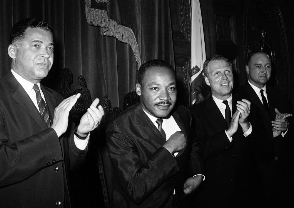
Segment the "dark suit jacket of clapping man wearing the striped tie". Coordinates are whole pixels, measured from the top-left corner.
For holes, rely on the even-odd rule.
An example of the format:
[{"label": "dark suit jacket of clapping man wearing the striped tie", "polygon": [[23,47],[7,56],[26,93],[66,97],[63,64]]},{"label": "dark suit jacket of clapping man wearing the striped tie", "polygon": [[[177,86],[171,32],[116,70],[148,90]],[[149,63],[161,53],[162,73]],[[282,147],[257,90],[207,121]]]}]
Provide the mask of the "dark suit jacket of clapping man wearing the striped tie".
[{"label": "dark suit jacket of clapping man wearing the striped tie", "polygon": [[[51,119],[62,101],[41,85]],[[30,97],[11,71],[0,81],[0,198],[1,207],[70,207],[65,169],[83,160],[70,139],[48,128]],[[69,156],[69,157],[67,157]],[[65,196],[64,196],[65,194]],[[64,202],[64,198],[67,202]]]}]

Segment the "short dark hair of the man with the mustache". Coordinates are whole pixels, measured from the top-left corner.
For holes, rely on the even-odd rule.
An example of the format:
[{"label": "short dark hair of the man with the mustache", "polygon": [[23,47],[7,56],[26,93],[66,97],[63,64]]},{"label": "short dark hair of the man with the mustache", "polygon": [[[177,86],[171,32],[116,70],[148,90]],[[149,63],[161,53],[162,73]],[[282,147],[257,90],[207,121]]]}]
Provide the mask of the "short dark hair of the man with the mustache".
[{"label": "short dark hair of the man with the mustache", "polygon": [[139,71],[138,71],[138,83],[140,85],[142,85],[143,79],[144,79],[145,74],[148,71],[148,69],[150,69],[153,66],[165,67],[165,68],[171,70],[173,72],[174,76],[176,77],[176,73],[173,70],[173,67],[171,66],[171,64],[168,64],[166,61],[163,61],[160,59],[153,59],[153,60],[147,61],[146,63],[144,63],[140,66]]}]

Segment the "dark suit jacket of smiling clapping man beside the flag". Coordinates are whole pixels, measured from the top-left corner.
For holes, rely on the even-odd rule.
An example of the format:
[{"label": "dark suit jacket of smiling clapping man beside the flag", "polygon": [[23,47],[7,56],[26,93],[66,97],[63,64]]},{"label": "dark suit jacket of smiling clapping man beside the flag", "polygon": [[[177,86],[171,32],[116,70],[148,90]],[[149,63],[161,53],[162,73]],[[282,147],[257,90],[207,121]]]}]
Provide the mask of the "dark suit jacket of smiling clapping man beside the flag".
[{"label": "dark suit jacket of smiling clapping man beside the flag", "polygon": [[[232,115],[236,111],[236,102],[233,96]],[[253,184],[257,171],[254,146],[260,147],[262,143],[257,137],[261,129],[255,128],[258,123],[256,110],[254,112],[251,108],[248,117],[253,127],[252,133],[244,137],[239,125],[232,142],[225,134],[227,124],[212,96],[193,105],[190,111],[195,119],[194,128],[201,144],[206,171],[205,181],[195,192],[196,205],[235,207],[235,203],[245,203],[252,195],[251,190],[255,189]]]}]

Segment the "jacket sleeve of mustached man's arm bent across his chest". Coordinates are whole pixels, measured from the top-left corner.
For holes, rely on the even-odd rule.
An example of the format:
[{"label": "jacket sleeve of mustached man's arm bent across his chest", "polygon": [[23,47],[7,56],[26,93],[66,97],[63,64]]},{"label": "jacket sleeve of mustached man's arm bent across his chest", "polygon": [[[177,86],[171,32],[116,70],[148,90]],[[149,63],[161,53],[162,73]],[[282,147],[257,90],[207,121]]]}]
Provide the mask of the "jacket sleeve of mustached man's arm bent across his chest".
[{"label": "jacket sleeve of mustached man's arm bent across his chest", "polygon": [[143,163],[138,148],[119,124],[108,127],[106,142],[115,175],[134,203],[142,202],[179,170],[176,160],[164,147]]}]

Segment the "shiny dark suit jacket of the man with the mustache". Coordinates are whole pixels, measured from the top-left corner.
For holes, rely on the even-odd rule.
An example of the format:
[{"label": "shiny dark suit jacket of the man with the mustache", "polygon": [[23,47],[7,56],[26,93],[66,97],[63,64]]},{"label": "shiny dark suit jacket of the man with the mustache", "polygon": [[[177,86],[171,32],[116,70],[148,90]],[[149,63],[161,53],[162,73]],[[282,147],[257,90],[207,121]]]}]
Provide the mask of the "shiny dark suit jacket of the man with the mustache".
[{"label": "shiny dark suit jacket of the man with the mustache", "polygon": [[171,207],[173,189],[183,205],[183,184],[188,177],[203,174],[198,141],[190,138],[191,115],[179,106],[173,117],[187,139],[173,157],[161,133],[136,105],[118,117],[106,130],[112,162],[111,207]]}]

